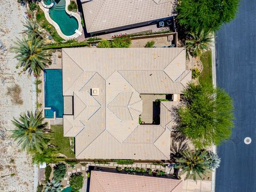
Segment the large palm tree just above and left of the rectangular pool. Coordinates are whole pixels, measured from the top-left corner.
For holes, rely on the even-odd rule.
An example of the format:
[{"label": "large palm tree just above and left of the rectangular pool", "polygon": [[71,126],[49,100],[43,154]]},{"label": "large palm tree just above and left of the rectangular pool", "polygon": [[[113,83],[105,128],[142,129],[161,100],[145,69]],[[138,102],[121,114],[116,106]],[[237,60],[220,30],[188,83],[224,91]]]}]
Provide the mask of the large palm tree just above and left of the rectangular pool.
[{"label": "large palm tree just above and left of the rectangular pool", "polygon": [[32,72],[39,75],[50,61],[51,54],[43,49],[42,39],[34,36],[27,39],[23,36],[21,40],[18,39],[15,42],[15,45],[12,47],[13,51],[17,53],[14,58],[19,59],[18,65],[23,67],[24,71],[28,69],[30,75]]}]

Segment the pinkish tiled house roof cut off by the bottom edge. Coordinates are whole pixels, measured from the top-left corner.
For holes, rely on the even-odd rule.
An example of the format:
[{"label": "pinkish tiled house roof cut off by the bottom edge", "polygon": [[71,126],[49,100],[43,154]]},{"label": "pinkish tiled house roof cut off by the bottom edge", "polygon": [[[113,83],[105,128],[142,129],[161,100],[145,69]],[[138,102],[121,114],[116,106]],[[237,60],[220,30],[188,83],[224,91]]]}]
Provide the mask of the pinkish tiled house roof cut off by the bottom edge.
[{"label": "pinkish tiled house roof cut off by the bottom edge", "polygon": [[90,192],[181,192],[182,181],[122,173],[91,171]]}]

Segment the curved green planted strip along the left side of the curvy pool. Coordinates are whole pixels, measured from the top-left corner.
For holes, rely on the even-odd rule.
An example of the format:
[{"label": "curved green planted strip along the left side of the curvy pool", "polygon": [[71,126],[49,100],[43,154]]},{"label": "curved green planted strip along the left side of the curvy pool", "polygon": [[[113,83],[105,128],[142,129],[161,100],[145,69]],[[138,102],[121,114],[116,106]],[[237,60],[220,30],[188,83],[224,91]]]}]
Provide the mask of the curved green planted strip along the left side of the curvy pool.
[{"label": "curved green planted strip along the left side of the curvy pool", "polygon": [[53,25],[51,25],[47,19],[45,18],[44,12],[41,9],[38,9],[37,14],[36,14],[36,21],[39,23],[39,25],[44,28],[45,30],[47,30],[52,38],[54,39],[54,41],[56,42],[61,42],[64,39],[61,38],[59,36],[59,34],[57,33],[56,29],[53,27]]}]

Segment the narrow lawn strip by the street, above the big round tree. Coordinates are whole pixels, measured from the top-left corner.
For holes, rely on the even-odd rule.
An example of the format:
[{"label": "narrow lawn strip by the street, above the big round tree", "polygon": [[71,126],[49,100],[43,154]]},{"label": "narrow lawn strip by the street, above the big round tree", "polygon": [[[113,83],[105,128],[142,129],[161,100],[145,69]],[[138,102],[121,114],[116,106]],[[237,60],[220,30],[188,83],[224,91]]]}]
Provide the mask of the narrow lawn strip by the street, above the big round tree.
[{"label": "narrow lawn strip by the street, above the big round tree", "polygon": [[206,51],[200,56],[203,71],[199,76],[199,83],[212,83],[212,51]]}]

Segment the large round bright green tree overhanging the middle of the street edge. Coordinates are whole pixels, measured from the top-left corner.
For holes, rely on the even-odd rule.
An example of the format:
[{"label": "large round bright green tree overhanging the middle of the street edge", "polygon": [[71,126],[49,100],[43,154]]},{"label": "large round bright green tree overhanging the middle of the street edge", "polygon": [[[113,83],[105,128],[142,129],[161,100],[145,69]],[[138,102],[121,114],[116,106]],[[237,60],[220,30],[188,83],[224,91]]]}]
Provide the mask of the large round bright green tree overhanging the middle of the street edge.
[{"label": "large round bright green tree overhanging the middle of the street edge", "polygon": [[212,84],[190,83],[178,109],[177,129],[195,148],[219,145],[229,139],[233,124],[233,102],[225,90]]}]

